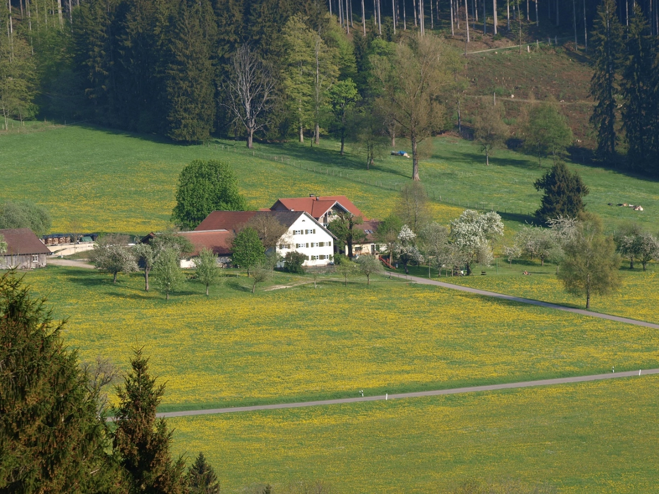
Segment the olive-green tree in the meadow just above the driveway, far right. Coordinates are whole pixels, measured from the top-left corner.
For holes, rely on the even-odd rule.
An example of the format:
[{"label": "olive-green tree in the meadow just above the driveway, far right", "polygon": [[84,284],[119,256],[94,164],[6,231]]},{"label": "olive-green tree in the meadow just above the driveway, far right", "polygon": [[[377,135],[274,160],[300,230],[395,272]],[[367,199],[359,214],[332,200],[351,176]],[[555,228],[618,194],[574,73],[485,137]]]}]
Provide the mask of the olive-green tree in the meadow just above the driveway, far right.
[{"label": "olive-green tree in the meadow just above the driveway, far right", "polygon": [[592,294],[608,294],[619,287],[619,264],[614,239],[604,235],[600,219],[582,215],[573,239],[565,245],[558,278],[567,292],[585,295],[589,309]]}]

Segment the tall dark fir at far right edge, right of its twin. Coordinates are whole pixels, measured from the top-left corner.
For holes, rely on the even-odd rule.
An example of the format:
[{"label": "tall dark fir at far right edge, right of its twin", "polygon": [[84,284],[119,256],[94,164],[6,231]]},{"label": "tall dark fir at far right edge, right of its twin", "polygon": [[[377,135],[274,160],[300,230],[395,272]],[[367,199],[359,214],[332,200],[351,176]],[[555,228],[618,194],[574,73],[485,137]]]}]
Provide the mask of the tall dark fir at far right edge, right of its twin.
[{"label": "tall dark fir at far right edge, right of its twin", "polygon": [[629,144],[627,161],[631,167],[641,170],[657,162],[656,149],[652,149],[652,141],[656,138],[653,123],[658,110],[652,67],[654,44],[648,22],[640,5],[636,4],[629,23],[629,38],[625,43],[620,86],[625,99],[622,121]]}]

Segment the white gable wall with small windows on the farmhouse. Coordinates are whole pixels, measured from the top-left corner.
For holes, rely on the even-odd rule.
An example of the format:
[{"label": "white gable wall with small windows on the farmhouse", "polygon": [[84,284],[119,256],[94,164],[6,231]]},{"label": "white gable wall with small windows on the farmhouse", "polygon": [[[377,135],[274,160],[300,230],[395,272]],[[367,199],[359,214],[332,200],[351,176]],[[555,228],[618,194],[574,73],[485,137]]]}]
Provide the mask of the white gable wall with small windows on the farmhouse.
[{"label": "white gable wall with small windows on the farmhouse", "polygon": [[297,250],[306,256],[305,266],[324,266],[334,254],[334,238],[306,213],[291,225],[287,234],[279,240],[277,252],[285,256]]}]

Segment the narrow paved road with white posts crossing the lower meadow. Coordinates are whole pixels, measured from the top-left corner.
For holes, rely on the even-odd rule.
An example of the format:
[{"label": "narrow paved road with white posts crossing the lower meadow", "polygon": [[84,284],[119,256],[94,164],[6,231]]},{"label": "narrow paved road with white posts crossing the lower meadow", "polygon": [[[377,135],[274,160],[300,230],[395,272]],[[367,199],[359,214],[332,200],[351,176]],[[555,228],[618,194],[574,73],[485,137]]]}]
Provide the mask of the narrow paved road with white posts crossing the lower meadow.
[{"label": "narrow paved road with white posts crossing the lower meadow", "polygon": [[304,401],[299,403],[275,403],[271,405],[234,406],[231,408],[212,408],[209,410],[185,410],[183,412],[165,412],[158,417],[187,417],[193,415],[229,414],[233,412],[254,412],[255,410],[279,410],[281,408],[301,408],[303,406],[334,405],[341,403],[357,403],[362,401],[395,400],[401,398],[434,397],[438,395],[455,395],[457,393],[475,393],[476,391],[496,391],[497,389],[525,388],[530,386],[546,386],[552,384],[581,383],[583,381],[598,381],[614,377],[631,377],[633,375],[659,374],[659,369],[635,370],[616,373],[577,375],[575,377],[558,377],[557,379],[542,379],[541,381],[524,381],[521,383],[492,384],[486,386],[471,386],[465,388],[438,389],[436,391],[415,391],[414,393],[398,393],[396,395],[378,395],[374,397],[338,398],[335,400]]}]

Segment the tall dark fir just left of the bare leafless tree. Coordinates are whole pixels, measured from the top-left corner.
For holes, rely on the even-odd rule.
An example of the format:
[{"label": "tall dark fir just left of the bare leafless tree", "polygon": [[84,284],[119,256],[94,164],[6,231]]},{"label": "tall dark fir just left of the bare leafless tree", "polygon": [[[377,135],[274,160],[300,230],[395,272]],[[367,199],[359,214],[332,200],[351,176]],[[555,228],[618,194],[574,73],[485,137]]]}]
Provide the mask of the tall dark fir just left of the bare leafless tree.
[{"label": "tall dark fir just left of the bare leafless tree", "polygon": [[213,130],[215,73],[210,53],[215,34],[204,22],[212,14],[208,0],[180,0],[175,11],[165,76],[167,135],[177,141],[200,142]]}]

